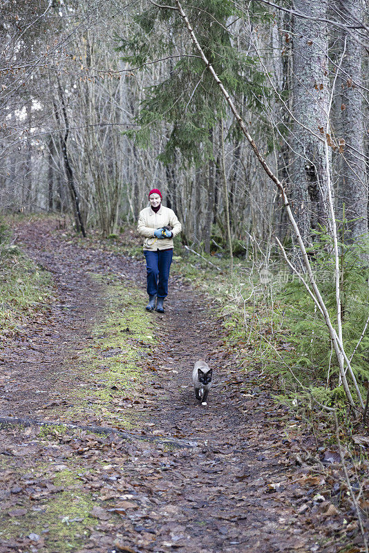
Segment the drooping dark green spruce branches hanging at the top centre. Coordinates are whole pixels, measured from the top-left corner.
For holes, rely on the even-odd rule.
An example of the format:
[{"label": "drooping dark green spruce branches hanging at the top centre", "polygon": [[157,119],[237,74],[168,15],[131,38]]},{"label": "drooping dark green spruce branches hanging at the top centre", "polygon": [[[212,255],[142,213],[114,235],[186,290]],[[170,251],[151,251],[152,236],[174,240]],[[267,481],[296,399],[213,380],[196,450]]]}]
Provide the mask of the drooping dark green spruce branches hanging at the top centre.
[{"label": "drooping dark green spruce branches hanging at the top centre", "polygon": [[[221,81],[243,109],[258,109],[267,94],[264,75],[251,55],[240,53],[227,30],[237,9],[227,0],[199,0],[186,5],[189,21],[205,55]],[[146,88],[137,116],[139,131],[129,131],[141,147],[150,143],[151,132],[167,124],[167,143],[159,158],[168,164],[180,152],[187,162],[199,165],[213,156],[213,129],[225,116],[223,95],[204,62],[193,48],[175,10],[151,6],[134,18],[132,37],[120,37],[122,59],[142,66],[162,57],[171,57],[169,74]],[[168,32],[160,32],[167,26]],[[164,29],[162,28],[164,31]],[[178,55],[179,53],[179,55]],[[179,59],[178,59],[179,58]],[[146,71],[149,71],[146,66]]]}]

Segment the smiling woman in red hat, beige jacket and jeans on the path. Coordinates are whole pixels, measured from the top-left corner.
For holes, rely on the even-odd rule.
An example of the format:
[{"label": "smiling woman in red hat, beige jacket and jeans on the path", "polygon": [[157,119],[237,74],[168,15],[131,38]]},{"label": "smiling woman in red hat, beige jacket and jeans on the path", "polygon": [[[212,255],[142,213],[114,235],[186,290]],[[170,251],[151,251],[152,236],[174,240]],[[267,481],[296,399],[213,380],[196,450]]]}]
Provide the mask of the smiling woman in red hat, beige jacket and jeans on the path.
[{"label": "smiling woman in red hat, beige jacket and jeans on the path", "polygon": [[173,257],[173,237],[182,226],[173,209],[162,205],[162,194],[154,188],[149,191],[149,207],[140,212],[138,232],[144,236],[144,256],[147,270],[147,311],[164,313],[164,298],[168,295],[169,269]]}]

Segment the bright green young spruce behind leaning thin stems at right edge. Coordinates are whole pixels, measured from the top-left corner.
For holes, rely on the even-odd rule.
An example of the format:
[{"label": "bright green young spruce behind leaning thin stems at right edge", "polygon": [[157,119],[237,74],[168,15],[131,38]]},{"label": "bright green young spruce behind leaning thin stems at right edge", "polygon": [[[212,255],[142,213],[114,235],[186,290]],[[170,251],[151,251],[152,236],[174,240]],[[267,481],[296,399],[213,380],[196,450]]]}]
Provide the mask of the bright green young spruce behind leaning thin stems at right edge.
[{"label": "bright green young spruce behind leaning thin stems at right edge", "polygon": [[[332,323],[337,326],[337,305],[334,283],[334,259],[328,235],[321,232],[320,242],[314,245],[312,267],[325,299]],[[368,265],[361,261],[366,245],[341,243],[341,306],[343,345],[348,357],[354,352],[368,319]],[[310,375],[325,382],[337,382],[339,372],[337,358],[331,347],[330,336],[325,321],[314,309],[312,300],[306,294],[305,287],[293,279],[277,296],[283,306],[284,324],[291,329],[290,341],[294,344],[291,360],[305,368]],[[288,305],[289,308],[285,309]],[[280,316],[282,310],[279,310]],[[278,317],[278,315],[277,315]],[[363,335],[361,343],[352,358],[352,369],[358,381],[369,379],[369,332]]]}]

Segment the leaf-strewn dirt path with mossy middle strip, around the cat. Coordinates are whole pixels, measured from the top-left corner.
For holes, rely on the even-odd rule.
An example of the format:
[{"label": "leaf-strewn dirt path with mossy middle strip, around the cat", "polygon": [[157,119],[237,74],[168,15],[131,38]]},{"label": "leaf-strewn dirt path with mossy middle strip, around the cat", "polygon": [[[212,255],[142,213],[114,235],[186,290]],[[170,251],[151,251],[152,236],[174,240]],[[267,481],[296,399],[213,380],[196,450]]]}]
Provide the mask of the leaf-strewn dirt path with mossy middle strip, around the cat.
[{"label": "leaf-strewn dirt path with mossy middle strip, around the cat", "polygon": [[0,350],[1,553],[361,551],[301,460],[314,436],[239,368],[209,298],[173,277],[147,313],[143,261],[50,220],[16,236],[54,297]]}]

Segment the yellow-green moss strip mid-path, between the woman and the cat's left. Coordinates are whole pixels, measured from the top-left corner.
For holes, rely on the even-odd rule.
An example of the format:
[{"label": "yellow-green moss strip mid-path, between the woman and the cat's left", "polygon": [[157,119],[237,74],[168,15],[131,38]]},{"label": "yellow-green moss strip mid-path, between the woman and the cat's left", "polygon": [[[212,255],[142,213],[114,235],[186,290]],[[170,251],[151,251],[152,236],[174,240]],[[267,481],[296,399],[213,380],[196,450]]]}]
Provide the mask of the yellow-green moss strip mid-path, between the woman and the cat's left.
[{"label": "yellow-green moss strip mid-path, between the woman and the cat's left", "polygon": [[155,343],[155,319],[143,308],[143,290],[112,274],[92,277],[102,287],[105,308],[88,346],[78,353],[77,386],[68,393],[73,406],[58,415],[71,420],[93,411],[104,424],[137,427],[140,415],[124,406],[122,396],[129,402],[143,382],[138,363]]}]

